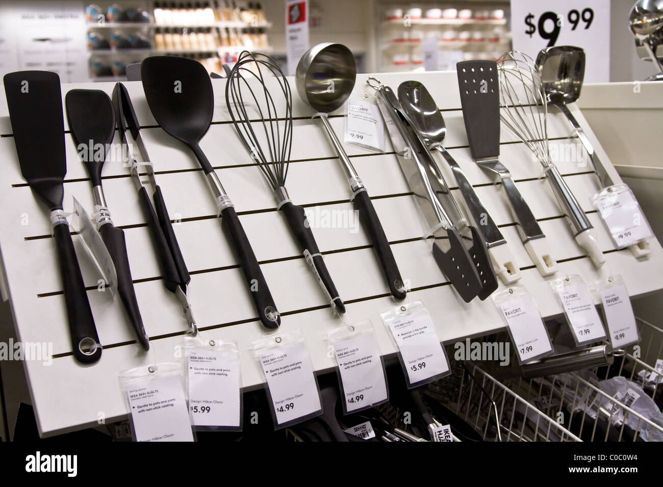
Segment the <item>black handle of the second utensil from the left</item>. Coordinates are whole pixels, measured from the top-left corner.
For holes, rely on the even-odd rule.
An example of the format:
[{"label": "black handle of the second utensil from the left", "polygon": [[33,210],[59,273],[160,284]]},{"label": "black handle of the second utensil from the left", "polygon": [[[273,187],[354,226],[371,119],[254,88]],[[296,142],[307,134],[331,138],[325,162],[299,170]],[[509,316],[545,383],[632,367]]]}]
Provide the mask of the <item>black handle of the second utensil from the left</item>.
[{"label": "black handle of the second utensil from the left", "polygon": [[145,350],[150,349],[150,340],[143,327],[143,317],[138,307],[136,293],[133,289],[133,280],[131,279],[131,269],[129,268],[129,256],[127,255],[127,243],[125,241],[124,231],[113,227],[112,223],[106,223],[99,227],[99,235],[103,243],[111,254],[115,270],[117,271],[117,292],[120,295],[122,304],[127,311],[129,321],[133,327],[138,343]]}]

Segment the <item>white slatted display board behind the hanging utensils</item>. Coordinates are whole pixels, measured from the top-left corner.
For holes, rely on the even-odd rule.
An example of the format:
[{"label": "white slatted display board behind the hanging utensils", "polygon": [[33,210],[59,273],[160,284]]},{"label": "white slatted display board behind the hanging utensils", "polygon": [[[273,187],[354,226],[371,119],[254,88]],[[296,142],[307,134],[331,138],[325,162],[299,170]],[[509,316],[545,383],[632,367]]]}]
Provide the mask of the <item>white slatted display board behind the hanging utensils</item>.
[{"label": "white slatted display board behind the hanging utensils", "polygon": [[[359,76],[355,93],[370,93],[366,76]],[[530,261],[518,239],[514,221],[503,201],[502,191],[471,160],[463,126],[455,73],[381,74],[383,83],[396,89],[408,79],[422,81],[438,106],[447,125],[445,146],[467,174],[470,182],[501,227],[514,258],[522,270],[522,284],[532,294],[546,317],[562,312],[544,278]],[[294,140],[288,174],[290,197],[314,215],[341,211],[347,217],[352,205],[343,171],[318,122],[310,119],[312,110],[297,97],[294,89]],[[282,313],[283,331],[301,328],[308,341],[314,367],[319,372],[333,367],[324,341],[326,330],[371,319],[377,329],[383,354],[394,354],[379,312],[396,305],[381,275],[377,258],[359,221],[341,228],[316,226],[314,235],[325,256],[331,276],[347,305],[343,320],[331,313],[310,270],[288,233],[282,215],[276,212],[271,190],[259,168],[239,142],[225,107],[225,81],[212,80],[215,90],[213,125],[202,140],[202,148],[235,203],[235,209]],[[267,336],[257,321],[257,313],[241,279],[241,270],[216,221],[215,203],[206,188],[202,170],[193,154],[160,129],[147,107],[140,82],[126,83],[141,121],[142,135],[161,186],[170,217],[177,220],[174,230],[192,274],[188,296],[203,337],[235,340],[242,351],[242,379],[245,388],[263,382],[251,343]],[[103,89],[109,95],[113,83],[63,85],[62,96],[75,87]],[[587,127],[577,108],[572,108],[589,139],[615,181],[619,176],[609,158]],[[331,117],[331,125],[342,140],[343,110]],[[65,118],[66,123],[66,118]],[[570,125],[552,108],[548,133],[553,144],[575,144]],[[64,184],[65,209],[71,211],[72,196],[88,210],[93,207],[90,182],[78,161],[76,148],[66,130],[67,176]],[[176,299],[160,282],[148,229],[139,208],[138,195],[129,177],[129,168],[119,160],[109,160],[103,168],[103,187],[113,209],[115,225],[125,230],[135,290],[152,348],[141,354],[119,299],[111,301],[108,292],[97,291],[96,274],[90,260],[77,247],[88,297],[103,345],[101,360],[92,366],[74,361],[58,274],[54,241],[48,215],[21,177],[4,95],[0,96],[0,249],[7,278],[7,290],[19,337],[24,342],[52,343],[52,364],[25,362],[32,401],[42,435],[53,435],[96,425],[99,413],[106,421],[125,417],[118,372],[154,362],[174,360],[182,344],[186,323]],[[607,263],[596,269],[575,244],[571,231],[548,187],[541,179],[542,169],[524,144],[503,129],[501,161],[511,170],[518,188],[546,233],[560,274],[580,274],[588,284],[601,277],[621,274],[633,296],[663,288],[663,250],[652,239],[649,256],[636,260],[627,250],[615,250],[596,211],[591,195],[597,190],[591,166],[575,161],[558,162],[570,188],[595,225]],[[119,142],[117,138],[115,142]],[[565,146],[568,147],[568,146]],[[577,146],[581,150],[580,146]],[[426,227],[416,209],[412,193],[387,144],[385,154],[365,152],[346,146],[363,179],[382,221],[400,272],[410,286],[408,301],[422,300],[430,310],[438,335],[445,343],[476,337],[503,328],[491,299],[464,303],[453,291],[433,259],[430,241],[422,240]],[[436,153],[437,158],[439,154]],[[44,154],[48,156],[48,154]],[[450,186],[455,188],[448,166],[440,166]],[[459,204],[463,200],[454,191]],[[324,220],[318,223],[324,224]],[[77,239],[75,239],[77,240]],[[78,246],[79,244],[76,243]],[[558,274],[559,275],[559,274]],[[501,288],[503,285],[501,284]]]}]

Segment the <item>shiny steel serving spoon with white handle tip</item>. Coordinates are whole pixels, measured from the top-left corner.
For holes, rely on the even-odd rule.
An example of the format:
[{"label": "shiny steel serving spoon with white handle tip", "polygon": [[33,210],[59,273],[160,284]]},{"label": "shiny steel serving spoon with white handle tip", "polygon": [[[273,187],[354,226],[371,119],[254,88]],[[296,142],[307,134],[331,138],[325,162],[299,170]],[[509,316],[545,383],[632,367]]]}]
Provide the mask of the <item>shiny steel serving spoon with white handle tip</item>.
[{"label": "shiny steel serving spoon with white handle tip", "polygon": [[465,176],[465,173],[452,155],[442,146],[446,134],[444,117],[433,97],[419,81],[405,81],[398,87],[398,99],[407,113],[414,129],[426,143],[429,150],[437,149],[451,168],[458,184],[458,189],[465,199],[465,205],[471,215],[475,228],[481,234],[493,262],[495,274],[507,286],[522,277],[520,269],[509,250],[509,244],[479,195]]}]

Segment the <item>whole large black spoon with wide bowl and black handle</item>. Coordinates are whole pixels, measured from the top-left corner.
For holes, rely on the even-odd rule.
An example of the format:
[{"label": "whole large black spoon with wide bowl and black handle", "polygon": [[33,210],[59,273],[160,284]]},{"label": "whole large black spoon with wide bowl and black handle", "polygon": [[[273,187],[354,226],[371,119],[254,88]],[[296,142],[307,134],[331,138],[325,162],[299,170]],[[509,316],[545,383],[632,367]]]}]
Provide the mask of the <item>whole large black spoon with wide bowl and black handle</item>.
[{"label": "whole large black spoon with wide bowl and black handle", "polygon": [[221,223],[233,244],[259,319],[267,328],[280,325],[280,315],[255,258],[249,239],[235,213],[230,197],[221,186],[210,161],[200,148],[200,139],[210,129],[214,92],[210,75],[196,60],[178,56],[150,56],[143,60],[141,80],[147,104],[168,135],[184,142],[196,155],[217,200]]}]

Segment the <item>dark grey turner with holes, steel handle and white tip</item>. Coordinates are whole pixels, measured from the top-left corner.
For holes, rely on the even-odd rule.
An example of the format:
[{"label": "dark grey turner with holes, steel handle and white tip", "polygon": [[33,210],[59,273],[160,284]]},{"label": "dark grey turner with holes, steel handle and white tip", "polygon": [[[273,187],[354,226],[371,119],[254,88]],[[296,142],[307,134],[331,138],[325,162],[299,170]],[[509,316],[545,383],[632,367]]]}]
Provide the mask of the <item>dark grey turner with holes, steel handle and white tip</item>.
[{"label": "dark grey turner with holes, steel handle and white tip", "polygon": [[[499,79],[495,61],[463,61],[456,64],[460,100],[469,150],[474,161],[501,182],[509,209],[516,220],[520,240],[542,276],[557,272],[532,210],[514,184],[511,173],[499,161]],[[477,81],[478,80],[478,81]]]}]

